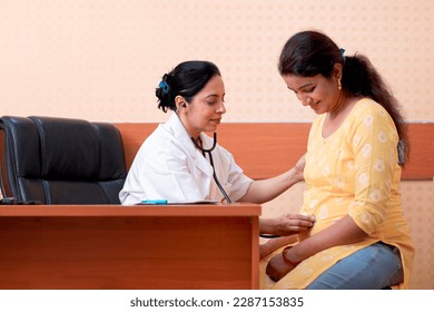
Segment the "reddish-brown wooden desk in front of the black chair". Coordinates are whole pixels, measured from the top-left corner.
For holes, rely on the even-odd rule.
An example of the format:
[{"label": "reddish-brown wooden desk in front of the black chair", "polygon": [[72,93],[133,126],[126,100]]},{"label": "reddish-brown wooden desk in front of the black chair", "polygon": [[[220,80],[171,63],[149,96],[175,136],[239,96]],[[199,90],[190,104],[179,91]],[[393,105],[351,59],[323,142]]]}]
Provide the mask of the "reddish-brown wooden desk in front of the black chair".
[{"label": "reddish-brown wooden desk in front of the black chair", "polygon": [[0,206],[0,289],[258,289],[260,206]]}]

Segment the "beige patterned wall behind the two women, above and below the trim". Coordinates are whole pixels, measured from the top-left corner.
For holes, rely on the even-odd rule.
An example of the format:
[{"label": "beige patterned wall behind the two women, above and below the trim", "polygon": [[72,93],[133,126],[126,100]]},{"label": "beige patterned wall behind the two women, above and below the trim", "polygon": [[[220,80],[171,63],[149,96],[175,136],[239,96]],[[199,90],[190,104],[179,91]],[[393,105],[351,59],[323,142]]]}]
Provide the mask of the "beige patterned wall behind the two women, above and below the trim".
[{"label": "beige patterned wall behind the two women, above and below the trim", "polygon": [[[431,0],[0,0],[0,116],[164,121],[160,77],[208,59],[226,82],[225,121],[310,121],[276,62],[290,35],[315,28],[347,55],[366,53],[408,120],[433,121],[433,14]],[[423,257],[414,285],[425,289],[434,289],[434,233],[418,223],[433,223],[433,182],[403,184]],[[265,214],[294,206],[297,194]]]}]

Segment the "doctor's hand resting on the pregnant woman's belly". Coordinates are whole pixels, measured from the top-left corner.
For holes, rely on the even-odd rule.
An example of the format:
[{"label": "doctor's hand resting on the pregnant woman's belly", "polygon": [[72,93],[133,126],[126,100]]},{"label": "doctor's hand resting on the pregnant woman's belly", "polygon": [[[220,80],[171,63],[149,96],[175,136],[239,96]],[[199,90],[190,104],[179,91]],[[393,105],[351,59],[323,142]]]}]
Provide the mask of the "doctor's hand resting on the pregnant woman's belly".
[{"label": "doctor's hand resting on the pregnant woman's belly", "polygon": [[283,214],[273,218],[259,218],[259,232],[260,234],[287,236],[309,230],[314,223],[314,215]]}]

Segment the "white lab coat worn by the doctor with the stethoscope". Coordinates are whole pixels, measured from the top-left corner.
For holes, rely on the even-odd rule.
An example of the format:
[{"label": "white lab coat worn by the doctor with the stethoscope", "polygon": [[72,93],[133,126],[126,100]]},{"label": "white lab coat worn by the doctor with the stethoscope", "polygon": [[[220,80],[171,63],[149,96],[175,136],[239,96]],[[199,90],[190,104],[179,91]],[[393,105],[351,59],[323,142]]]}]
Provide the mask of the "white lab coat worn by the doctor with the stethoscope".
[{"label": "white lab coat worn by the doctor with the stethoscope", "polygon": [[[204,148],[213,138],[200,134]],[[217,144],[211,152],[217,177],[233,202],[243,197],[251,178],[235,163],[229,152]],[[207,155],[207,154],[206,154]],[[221,201],[224,196],[213,178],[208,155],[205,158],[174,113],[144,142],[128,173],[119,199],[125,205],[146,199],[169,203]]]}]

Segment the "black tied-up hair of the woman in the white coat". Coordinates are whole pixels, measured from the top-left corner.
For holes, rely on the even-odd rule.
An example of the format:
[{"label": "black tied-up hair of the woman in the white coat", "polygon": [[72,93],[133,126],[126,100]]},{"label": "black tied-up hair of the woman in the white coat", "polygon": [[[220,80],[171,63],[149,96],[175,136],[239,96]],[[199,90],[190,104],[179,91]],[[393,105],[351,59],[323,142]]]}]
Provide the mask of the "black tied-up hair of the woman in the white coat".
[{"label": "black tied-up hair of the woman in the white coat", "polygon": [[181,96],[187,103],[199,92],[214,77],[221,76],[218,67],[210,61],[190,60],[179,64],[168,74],[162,76],[161,82],[156,89],[158,108],[167,113],[176,110],[175,98]]}]

